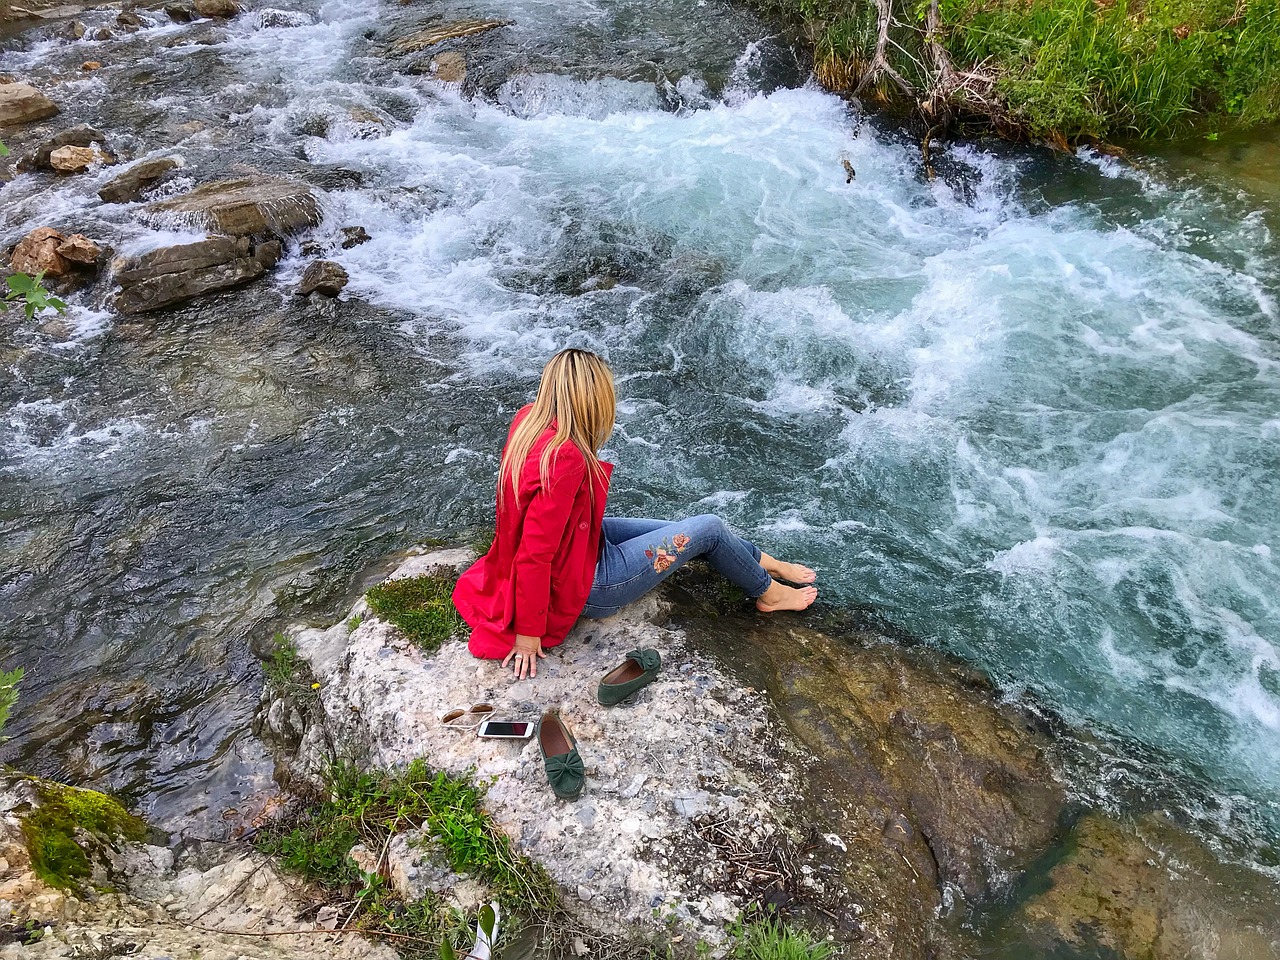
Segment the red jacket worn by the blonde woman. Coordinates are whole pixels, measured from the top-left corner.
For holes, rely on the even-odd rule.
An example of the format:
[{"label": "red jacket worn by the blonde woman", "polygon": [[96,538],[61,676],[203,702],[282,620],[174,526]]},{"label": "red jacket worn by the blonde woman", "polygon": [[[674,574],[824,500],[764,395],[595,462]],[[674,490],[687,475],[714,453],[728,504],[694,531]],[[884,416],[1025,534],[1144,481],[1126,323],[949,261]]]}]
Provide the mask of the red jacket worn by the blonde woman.
[{"label": "red jacket worn by the blonde woman", "polygon": [[[516,413],[508,443],[529,410]],[[568,440],[552,456],[544,488],[539,463],[554,434],[548,428],[534,443],[520,470],[518,497],[507,490],[498,507],[493,547],[453,588],[453,605],[471,625],[476,657],[502,659],[516,645],[516,634],[556,646],[591,593],[613,465],[600,463],[603,479],[588,476],[586,458]]]}]

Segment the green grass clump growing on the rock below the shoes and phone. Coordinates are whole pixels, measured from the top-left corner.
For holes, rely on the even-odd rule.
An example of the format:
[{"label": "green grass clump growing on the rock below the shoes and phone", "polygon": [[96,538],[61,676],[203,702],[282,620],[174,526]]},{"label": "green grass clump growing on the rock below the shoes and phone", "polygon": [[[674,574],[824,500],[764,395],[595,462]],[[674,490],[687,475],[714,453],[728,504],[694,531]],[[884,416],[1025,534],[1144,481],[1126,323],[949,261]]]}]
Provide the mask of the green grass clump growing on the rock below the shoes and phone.
[{"label": "green grass clump growing on the rock below the shoes and phone", "polygon": [[443,940],[470,947],[463,941],[474,918],[460,916],[434,895],[402,901],[384,878],[362,874],[347,854],[357,844],[383,850],[392,836],[421,827],[440,844],[454,872],[477,878],[500,902],[506,933],[521,920],[550,916],[557,909],[554,884],[540,867],[512,851],[484,812],[483,796],[474,783],[431,772],[421,760],[401,772],[337,768],[325,799],[292,823],[260,833],[256,844],[339,902],[353,925],[388,934],[403,952],[434,956]]}]

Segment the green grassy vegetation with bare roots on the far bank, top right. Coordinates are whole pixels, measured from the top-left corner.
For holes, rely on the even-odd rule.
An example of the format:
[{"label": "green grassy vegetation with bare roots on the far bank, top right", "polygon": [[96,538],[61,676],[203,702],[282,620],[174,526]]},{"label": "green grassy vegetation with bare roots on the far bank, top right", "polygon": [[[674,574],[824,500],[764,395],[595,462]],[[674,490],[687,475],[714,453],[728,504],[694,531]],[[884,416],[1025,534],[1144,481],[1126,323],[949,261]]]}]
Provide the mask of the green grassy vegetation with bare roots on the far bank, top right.
[{"label": "green grassy vegetation with bare roots on the far bank, top right", "polygon": [[824,86],[934,136],[1160,140],[1280,116],[1277,0],[758,0]]}]

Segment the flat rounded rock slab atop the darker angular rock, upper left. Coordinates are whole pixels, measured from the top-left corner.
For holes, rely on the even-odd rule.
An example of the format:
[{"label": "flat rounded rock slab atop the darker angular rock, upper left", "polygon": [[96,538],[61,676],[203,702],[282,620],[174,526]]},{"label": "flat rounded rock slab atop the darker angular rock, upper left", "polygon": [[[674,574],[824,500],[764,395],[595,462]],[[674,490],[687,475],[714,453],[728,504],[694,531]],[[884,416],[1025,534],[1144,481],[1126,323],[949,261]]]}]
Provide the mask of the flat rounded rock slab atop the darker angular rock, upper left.
[{"label": "flat rounded rock slab atop the darker angular rock, upper left", "polygon": [[205,183],[173,200],[151,204],[160,220],[232,237],[287,236],[320,223],[320,205],[305,183],[276,177],[246,177]]}]

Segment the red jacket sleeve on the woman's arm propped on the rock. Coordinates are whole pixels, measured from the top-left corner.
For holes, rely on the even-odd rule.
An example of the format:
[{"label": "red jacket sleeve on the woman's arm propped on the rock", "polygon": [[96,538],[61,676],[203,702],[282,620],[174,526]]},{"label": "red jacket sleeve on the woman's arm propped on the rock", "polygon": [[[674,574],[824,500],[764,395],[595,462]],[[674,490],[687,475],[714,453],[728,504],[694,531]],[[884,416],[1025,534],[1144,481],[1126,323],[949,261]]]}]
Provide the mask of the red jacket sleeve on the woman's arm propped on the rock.
[{"label": "red jacket sleeve on the woman's arm propped on the rock", "polygon": [[552,561],[564,539],[573,500],[585,476],[586,462],[572,442],[568,442],[557,451],[552,461],[548,485],[539,485],[529,502],[512,567],[517,634],[539,639],[547,634]]}]

